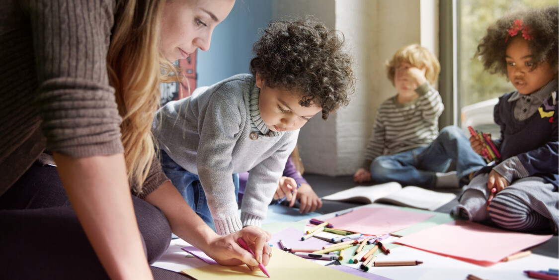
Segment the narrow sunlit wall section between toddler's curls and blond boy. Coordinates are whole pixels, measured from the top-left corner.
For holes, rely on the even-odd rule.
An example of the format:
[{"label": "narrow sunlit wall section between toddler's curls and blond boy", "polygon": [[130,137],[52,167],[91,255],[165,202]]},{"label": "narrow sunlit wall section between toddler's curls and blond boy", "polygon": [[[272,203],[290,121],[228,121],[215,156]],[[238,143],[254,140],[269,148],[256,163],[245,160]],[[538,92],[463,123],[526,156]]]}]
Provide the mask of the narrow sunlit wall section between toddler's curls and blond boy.
[{"label": "narrow sunlit wall section between toddler's curls and blond boy", "polygon": [[[364,147],[371,133],[375,115],[371,108],[377,104],[373,92],[380,78],[377,74],[376,38],[377,1],[336,1],[336,29],[344,33],[353,53],[354,73],[358,82],[347,108],[336,115],[337,166],[334,174],[353,174],[361,164]],[[305,168],[307,168],[305,166]]]}]

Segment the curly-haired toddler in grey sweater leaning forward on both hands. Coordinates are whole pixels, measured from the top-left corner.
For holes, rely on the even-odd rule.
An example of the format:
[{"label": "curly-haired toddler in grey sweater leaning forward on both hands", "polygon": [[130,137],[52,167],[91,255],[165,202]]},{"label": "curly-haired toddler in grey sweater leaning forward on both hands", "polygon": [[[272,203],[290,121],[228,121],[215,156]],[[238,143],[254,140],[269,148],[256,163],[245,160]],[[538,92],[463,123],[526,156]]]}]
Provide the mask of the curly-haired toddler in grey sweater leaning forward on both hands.
[{"label": "curly-haired toddler in grey sweater leaning forward on both hands", "polygon": [[[312,17],[272,21],[254,44],[252,74],[197,88],[158,111],[163,170],[218,234],[260,226],[299,129],[348,104],[354,76],[343,43]],[[231,175],[249,170],[239,217]]]}]

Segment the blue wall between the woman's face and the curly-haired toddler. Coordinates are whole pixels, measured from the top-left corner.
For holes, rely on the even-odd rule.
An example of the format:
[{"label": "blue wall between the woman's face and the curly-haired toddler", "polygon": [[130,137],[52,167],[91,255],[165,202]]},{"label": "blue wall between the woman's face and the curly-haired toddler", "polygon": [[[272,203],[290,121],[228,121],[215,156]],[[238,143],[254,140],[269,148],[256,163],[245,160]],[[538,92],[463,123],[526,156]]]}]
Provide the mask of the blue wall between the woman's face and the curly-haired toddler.
[{"label": "blue wall between the woman's face and the curly-haired toddler", "polygon": [[259,38],[259,29],[266,28],[271,18],[271,1],[236,0],[229,16],[215,28],[210,49],[198,49],[197,87],[249,73],[252,45]]}]

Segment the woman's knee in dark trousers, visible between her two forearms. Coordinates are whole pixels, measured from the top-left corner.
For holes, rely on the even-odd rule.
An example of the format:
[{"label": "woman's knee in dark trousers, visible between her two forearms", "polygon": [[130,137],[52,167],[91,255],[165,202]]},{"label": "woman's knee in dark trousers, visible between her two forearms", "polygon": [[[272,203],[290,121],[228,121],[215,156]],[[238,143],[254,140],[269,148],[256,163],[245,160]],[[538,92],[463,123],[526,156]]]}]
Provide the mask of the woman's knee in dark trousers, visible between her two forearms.
[{"label": "woman's knee in dark trousers, visible between her two forearms", "polygon": [[159,208],[136,197],[134,197],[134,210],[136,212],[138,228],[144,238],[148,262],[153,263],[169,247],[171,240],[169,222]]}]

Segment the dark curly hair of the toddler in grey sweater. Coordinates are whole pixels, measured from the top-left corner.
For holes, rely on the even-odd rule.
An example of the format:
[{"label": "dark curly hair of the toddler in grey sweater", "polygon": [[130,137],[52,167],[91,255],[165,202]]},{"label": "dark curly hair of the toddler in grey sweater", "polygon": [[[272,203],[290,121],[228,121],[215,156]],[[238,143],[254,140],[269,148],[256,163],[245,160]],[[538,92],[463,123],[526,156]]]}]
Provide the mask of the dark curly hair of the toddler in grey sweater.
[{"label": "dark curly hair of the toddler in grey sweater", "polygon": [[250,72],[269,87],[301,91],[301,106],[322,108],[322,118],[347,106],[354,92],[353,59],[343,50],[344,37],[316,18],[272,21],[254,43]]}]

